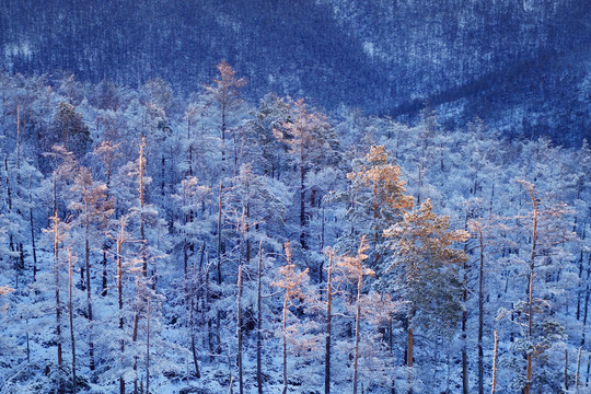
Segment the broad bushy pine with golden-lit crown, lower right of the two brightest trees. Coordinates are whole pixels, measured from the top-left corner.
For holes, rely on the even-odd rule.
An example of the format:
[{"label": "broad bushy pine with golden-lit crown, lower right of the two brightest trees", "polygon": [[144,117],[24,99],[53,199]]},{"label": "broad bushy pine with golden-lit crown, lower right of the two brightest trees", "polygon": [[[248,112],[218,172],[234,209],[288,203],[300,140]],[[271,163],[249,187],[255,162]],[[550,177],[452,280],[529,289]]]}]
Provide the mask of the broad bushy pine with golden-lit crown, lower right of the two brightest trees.
[{"label": "broad bushy pine with golden-lit crown, lower right of the two brightest trees", "polygon": [[459,269],[467,256],[452,246],[465,242],[467,233],[450,230],[449,217],[438,217],[427,200],[384,236],[392,239],[394,251],[387,290],[408,302],[406,364],[413,367],[414,329],[439,329],[449,336],[461,318],[464,285]]}]

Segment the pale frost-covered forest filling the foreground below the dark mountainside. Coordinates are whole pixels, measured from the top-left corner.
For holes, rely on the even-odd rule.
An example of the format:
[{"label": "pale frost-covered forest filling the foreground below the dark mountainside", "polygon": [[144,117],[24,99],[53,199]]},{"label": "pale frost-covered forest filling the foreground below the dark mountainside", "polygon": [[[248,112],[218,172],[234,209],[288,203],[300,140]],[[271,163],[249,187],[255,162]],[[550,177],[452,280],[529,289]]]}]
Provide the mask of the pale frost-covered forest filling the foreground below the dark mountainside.
[{"label": "pale frost-covered forest filling the foreground below the dark mountainside", "polygon": [[587,142],[0,83],[1,392],[591,391]]}]

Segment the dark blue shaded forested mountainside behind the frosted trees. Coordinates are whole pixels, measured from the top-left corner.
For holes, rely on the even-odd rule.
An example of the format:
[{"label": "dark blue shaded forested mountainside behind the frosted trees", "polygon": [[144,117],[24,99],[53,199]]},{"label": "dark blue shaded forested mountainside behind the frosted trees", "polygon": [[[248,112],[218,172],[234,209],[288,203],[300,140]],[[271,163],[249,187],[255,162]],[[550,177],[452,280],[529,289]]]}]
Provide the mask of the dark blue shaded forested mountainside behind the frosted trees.
[{"label": "dark blue shaded forested mountainside behind the frosted trees", "polygon": [[134,88],[163,78],[188,94],[224,58],[253,101],[274,91],[414,117],[428,100],[454,128],[477,114],[503,132],[589,138],[586,0],[2,0],[0,9],[0,68],[10,72],[67,70]]}]

